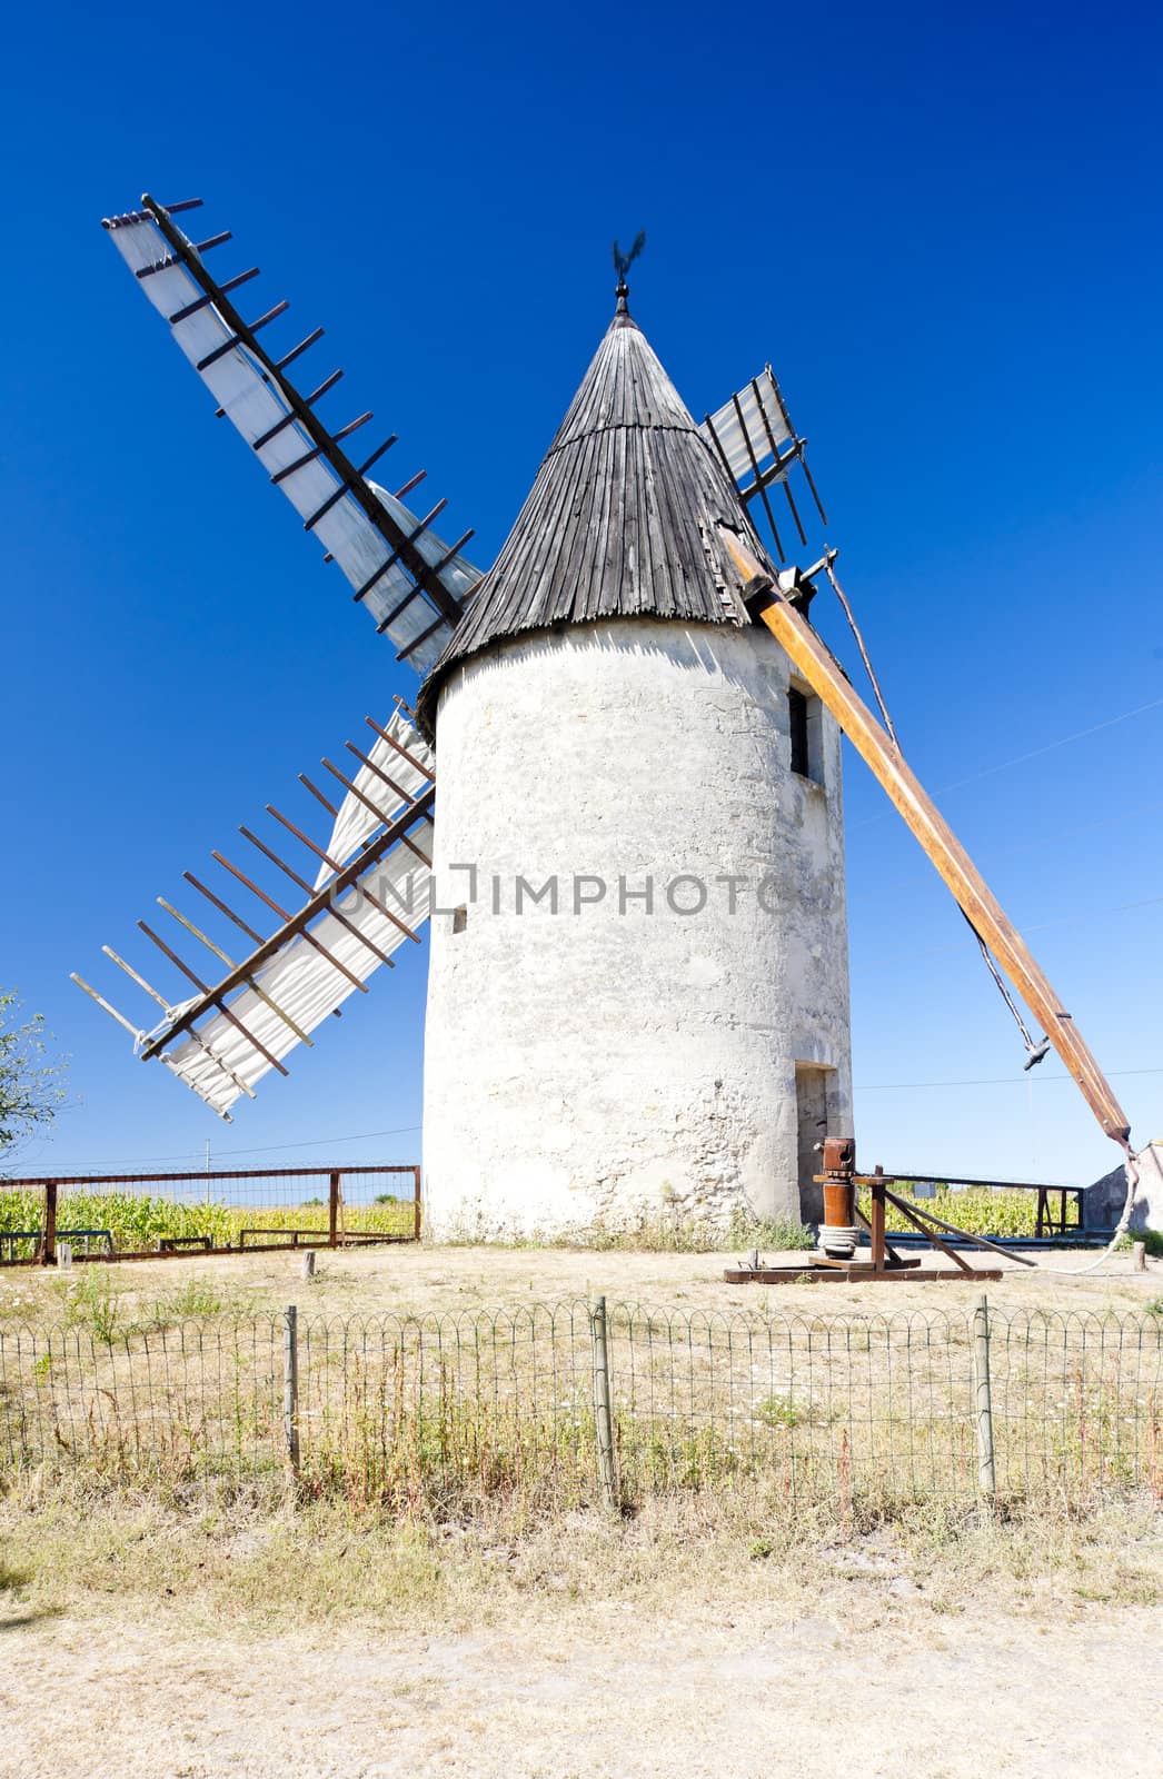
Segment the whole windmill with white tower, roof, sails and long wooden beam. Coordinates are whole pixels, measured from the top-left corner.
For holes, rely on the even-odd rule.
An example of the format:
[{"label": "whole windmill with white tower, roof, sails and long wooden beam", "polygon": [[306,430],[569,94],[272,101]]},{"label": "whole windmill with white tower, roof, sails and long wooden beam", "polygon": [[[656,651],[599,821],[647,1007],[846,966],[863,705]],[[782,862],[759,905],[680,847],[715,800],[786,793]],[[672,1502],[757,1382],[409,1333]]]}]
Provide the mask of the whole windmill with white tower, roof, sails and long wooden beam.
[{"label": "whole windmill with white tower, roof, sails and long wooden beam", "polygon": [[160,1021],[75,978],[137,1053],[229,1117],[427,922],[430,1229],[557,1233],[660,1204],[818,1217],[816,1147],[852,1128],[843,728],[1126,1146],[1065,1009],[807,621],[816,580],[839,591],[836,553],[786,564],[784,535],[807,546],[804,516],[827,521],[770,366],[697,425],[630,313],[640,240],[615,244],[610,327],[482,575],[471,532],[434,528],[445,500],[405,505],[420,477],[372,479],[395,436],[349,454],[372,416],[322,420],[341,374],[308,395],[290,377],[322,329],[269,350],[286,304],[247,324],[233,294],[256,270],[217,281],[206,258],[231,237],[190,240],[188,208],[144,197],[105,228],[421,687],[414,712],[368,719],[347,769],[324,761],[327,788],[301,774],[322,840],[267,806],[297,863],[242,829],[292,893],[222,852],[217,888],[187,873],[219,938],[158,902],[197,968],[139,922],[180,993],[105,948]]}]

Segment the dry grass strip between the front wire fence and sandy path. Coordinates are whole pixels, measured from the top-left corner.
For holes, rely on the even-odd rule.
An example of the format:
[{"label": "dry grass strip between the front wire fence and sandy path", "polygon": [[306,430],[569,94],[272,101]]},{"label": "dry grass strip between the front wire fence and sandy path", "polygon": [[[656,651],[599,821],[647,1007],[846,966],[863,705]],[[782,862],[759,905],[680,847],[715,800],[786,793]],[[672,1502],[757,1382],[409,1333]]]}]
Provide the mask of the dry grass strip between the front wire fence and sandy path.
[{"label": "dry grass strip between the front wire fence and sandy path", "polygon": [[393,1519],[349,1501],[235,1500],[190,1509],[94,1489],[25,1487],[0,1498],[9,1601],[59,1612],[92,1596],[142,1610],[171,1601],[181,1624],[265,1637],[299,1622],[391,1624],[398,1633],[505,1628],[615,1603],[635,1615],[786,1603],[875,1631],[893,1583],[923,1592],[934,1619],[994,1605],[1015,1619],[1163,1599],[1158,1512],[1110,1509],[1079,1523],[1026,1514],[982,1526],[973,1514],[914,1512],[894,1525],[786,1521],[772,1493],[653,1501],[630,1521],[567,1519],[496,1503],[480,1519]]}]

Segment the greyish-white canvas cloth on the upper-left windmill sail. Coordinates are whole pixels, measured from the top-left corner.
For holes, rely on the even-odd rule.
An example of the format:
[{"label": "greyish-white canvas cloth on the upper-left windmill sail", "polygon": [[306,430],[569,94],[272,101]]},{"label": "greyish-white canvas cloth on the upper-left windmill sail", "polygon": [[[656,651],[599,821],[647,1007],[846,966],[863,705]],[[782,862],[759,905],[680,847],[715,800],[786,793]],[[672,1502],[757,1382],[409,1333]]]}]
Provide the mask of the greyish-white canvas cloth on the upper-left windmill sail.
[{"label": "greyish-white canvas cloth on the upper-left windmill sail", "polygon": [[[350,493],[343,493],[336,471],[313,450],[313,441],[301,425],[295,420],[286,420],[290,409],[258,359],[244,345],[229,343],[235,334],[212,302],[203,302],[183,318],[171,318],[181,317],[185,308],[197,304],[203,292],[181,263],[162,263],[171,253],[151,217],[119,221],[110,228],[110,238],[130,270],[142,272],[162,267],[139,278],[140,288],[153,308],[169,320],[181,352],[194,365],[219,407],[251,445],[263,468],[270,475],[277,475],[297,464],[299,459],[309,459],[283,477],[277,486],[304,521],[320,509],[327,509],[315,521],[311,532],[336,559],[352,589],[366,587],[372,582],[363,605],[372,612],[377,626],[397,607],[402,607],[398,616],[386,624],[386,632],[397,649],[407,651],[418,637],[423,637],[425,630],[432,628],[439,612],[427,598],[409,600],[414,585],[413,576],[402,562],[391,560],[393,551],[386,539],[372,525],[359,502]],[[206,363],[206,359],[213,361]],[[199,370],[199,366],[203,368]],[[270,432],[274,436],[258,445]],[[464,600],[480,578],[478,569],[462,555],[450,555],[443,539],[432,530],[421,530],[420,519],[386,489],[375,482],[366,486],[377,495],[400,530],[413,537],[414,548],[429,568],[439,568],[439,580],[446,591],[455,600]],[[329,505],[329,502],[333,503]],[[445,621],[411,649],[407,660],[418,672],[429,671],[450,632],[452,624]]]}]

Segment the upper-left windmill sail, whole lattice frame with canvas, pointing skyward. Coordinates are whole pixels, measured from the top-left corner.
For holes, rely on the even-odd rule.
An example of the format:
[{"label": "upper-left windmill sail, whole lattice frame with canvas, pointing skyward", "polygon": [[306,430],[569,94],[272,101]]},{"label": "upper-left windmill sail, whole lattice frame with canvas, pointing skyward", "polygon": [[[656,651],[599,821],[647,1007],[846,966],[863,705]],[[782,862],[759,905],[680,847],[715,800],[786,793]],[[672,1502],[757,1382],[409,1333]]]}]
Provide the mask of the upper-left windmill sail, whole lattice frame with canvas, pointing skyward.
[{"label": "upper-left windmill sail, whole lattice frame with canvas, pointing skyward", "polygon": [[283,358],[272,358],[258,333],[288,304],[276,304],[253,324],[242,320],[229,294],[256,272],[219,283],[205,265],[205,254],[229,240],[228,233],[194,244],[172,221],[174,212],[194,205],[165,210],[148,196],[142,205],[144,210],[105,221],[121,258],[169,322],[219,413],[231,420],[283,489],[304,530],[340,564],[354,598],[395,644],[397,658],[427,672],[480,580],[462,555],[471,530],[448,544],[432,530],[446,502],[437,502],[425,518],[404,505],[400,496],[421,477],[413,477],[397,495],[368,479],[395,436],[361,464],[347,457],[341,441],[372,415],[336,432],[324,425],[315,407],[343,374],[334,372],[306,397],[286,375],[286,366],[322,336],[322,327]]}]

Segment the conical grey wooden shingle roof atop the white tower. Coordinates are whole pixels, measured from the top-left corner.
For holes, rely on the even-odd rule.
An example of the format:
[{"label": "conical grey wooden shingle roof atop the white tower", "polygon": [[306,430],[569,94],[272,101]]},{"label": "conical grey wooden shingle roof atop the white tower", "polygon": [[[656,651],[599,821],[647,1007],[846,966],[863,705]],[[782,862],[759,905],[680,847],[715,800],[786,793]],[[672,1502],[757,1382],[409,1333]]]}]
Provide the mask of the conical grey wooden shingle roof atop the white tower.
[{"label": "conical grey wooden shingle roof atop the white tower", "polygon": [[450,667],[530,630],[605,617],[745,623],[738,576],[713,534],[720,518],[750,532],[734,484],[619,288],[517,521],[421,687],[423,728],[434,726]]}]

